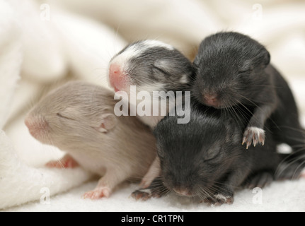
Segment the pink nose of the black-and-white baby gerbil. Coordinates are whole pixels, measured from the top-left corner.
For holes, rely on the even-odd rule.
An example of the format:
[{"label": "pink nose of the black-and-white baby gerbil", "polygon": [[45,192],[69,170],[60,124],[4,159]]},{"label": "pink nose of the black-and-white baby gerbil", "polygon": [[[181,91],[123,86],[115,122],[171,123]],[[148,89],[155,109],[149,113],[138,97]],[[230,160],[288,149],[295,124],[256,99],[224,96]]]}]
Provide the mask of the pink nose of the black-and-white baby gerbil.
[{"label": "pink nose of the black-and-white baby gerbil", "polygon": [[127,85],[127,76],[125,71],[122,71],[120,65],[110,64],[109,67],[110,85],[115,88],[115,92],[122,90]]}]

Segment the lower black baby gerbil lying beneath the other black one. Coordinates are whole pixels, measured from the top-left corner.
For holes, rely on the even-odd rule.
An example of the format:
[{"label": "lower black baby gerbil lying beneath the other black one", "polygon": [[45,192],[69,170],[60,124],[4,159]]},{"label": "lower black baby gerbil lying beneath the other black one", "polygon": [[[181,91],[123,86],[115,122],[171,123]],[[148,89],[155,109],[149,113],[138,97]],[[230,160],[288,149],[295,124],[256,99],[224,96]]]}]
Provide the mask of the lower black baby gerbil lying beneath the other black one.
[{"label": "lower black baby gerbil lying beneath the other black one", "polygon": [[[133,196],[145,200],[174,191],[220,205],[233,203],[239,186],[265,186],[275,179],[283,156],[277,154],[270,130],[266,129],[264,146],[245,151],[240,140],[248,119],[236,121],[231,114],[192,102],[188,124],[177,124],[175,117],[162,119],[154,129],[161,177]],[[296,176],[301,172],[295,166],[285,170]]]}]

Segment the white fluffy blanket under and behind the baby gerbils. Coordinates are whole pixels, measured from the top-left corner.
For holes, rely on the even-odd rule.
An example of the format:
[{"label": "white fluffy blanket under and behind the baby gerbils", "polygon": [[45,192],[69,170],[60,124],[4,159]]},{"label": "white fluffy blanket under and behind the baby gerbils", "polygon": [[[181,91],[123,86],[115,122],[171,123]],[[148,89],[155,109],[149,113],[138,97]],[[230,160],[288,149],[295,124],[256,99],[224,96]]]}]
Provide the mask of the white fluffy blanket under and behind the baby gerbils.
[{"label": "white fluffy blanket under and behind the baby gerbils", "polygon": [[79,79],[107,86],[108,61],[128,42],[158,39],[192,58],[200,41],[220,30],[244,32],[265,44],[304,116],[304,11],[304,2],[288,0],[0,0],[0,209],[304,211],[304,179],[275,182],[257,193],[238,191],[232,206],[207,207],[173,194],[134,201],[136,184],[123,185],[108,199],[84,200],[96,179],[88,182],[92,175],[80,168],[43,167],[63,153],[35,141],[23,124],[30,107],[56,85]]}]

